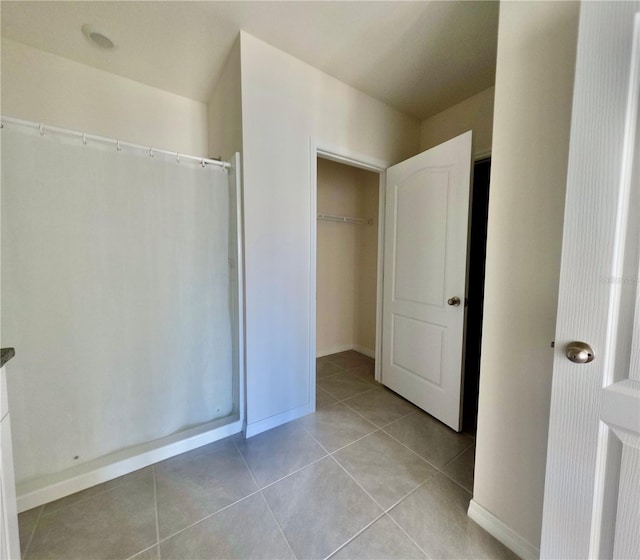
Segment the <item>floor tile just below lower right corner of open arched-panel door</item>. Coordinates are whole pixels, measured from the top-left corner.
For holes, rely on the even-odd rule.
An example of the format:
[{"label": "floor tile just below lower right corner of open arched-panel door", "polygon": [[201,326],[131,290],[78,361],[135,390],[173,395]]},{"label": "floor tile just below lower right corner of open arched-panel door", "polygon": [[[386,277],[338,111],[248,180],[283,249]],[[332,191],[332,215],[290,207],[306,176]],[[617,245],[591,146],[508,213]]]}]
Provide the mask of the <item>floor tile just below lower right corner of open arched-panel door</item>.
[{"label": "floor tile just below lower right corner of open arched-panel door", "polygon": [[436,467],[442,467],[474,444],[426,413],[418,412],[384,427],[384,431]]}]

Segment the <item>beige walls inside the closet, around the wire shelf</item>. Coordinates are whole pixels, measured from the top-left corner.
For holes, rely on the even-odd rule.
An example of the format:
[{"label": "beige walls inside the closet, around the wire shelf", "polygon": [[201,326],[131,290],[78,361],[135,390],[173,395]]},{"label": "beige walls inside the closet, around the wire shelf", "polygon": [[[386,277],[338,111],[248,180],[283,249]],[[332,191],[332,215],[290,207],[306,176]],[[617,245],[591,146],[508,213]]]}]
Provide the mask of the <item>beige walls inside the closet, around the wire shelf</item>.
[{"label": "beige walls inside the closet, around the wire shelf", "polygon": [[318,213],[374,221],[318,220],[316,356],[375,353],[378,181],[376,173],[318,159]]}]

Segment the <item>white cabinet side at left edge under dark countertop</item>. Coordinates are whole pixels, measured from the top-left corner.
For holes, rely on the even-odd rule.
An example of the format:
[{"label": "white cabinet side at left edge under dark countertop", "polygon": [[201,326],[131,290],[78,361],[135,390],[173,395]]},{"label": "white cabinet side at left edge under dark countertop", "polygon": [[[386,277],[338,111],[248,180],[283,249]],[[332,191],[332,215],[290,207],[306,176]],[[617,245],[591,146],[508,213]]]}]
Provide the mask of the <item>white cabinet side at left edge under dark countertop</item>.
[{"label": "white cabinet side at left edge under dark countertop", "polygon": [[0,560],[20,559],[11,418],[5,368],[0,368]]}]

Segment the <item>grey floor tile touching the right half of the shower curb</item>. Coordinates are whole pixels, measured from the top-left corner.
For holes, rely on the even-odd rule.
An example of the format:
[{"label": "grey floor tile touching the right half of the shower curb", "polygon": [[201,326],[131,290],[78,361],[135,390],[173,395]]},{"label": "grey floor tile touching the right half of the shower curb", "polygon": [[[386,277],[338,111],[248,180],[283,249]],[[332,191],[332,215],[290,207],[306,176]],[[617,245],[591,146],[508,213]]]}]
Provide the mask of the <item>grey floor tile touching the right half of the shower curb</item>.
[{"label": "grey floor tile touching the right half of the shower curb", "polygon": [[160,538],[257,490],[233,442],[212,444],[155,466]]}]

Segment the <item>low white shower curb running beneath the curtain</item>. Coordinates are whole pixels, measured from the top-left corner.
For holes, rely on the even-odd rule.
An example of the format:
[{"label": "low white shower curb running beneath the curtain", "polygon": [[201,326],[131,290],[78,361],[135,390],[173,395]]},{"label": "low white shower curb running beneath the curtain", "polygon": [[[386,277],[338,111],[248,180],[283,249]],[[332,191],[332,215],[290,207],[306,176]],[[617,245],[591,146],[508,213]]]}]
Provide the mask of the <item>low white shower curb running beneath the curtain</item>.
[{"label": "low white shower curb running beneath the curtain", "polygon": [[191,451],[208,443],[242,431],[242,421],[222,418],[149,443],[88,461],[55,475],[38,478],[18,485],[18,512],[64,498],[96,484],[113,480],[138,469]]}]

